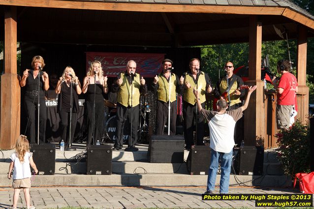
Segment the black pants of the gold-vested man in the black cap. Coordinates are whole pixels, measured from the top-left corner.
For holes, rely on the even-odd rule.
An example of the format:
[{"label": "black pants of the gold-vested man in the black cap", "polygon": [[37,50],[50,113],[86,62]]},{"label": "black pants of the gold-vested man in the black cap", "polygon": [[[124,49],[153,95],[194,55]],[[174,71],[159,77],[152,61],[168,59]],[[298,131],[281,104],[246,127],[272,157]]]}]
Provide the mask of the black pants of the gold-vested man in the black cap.
[{"label": "black pants of the gold-vested man in the black cap", "polygon": [[[170,102],[170,135],[176,135],[176,121],[177,121],[177,105],[176,101]],[[156,134],[163,135],[164,126],[168,126],[169,102],[157,101],[157,122]],[[166,130],[168,133],[168,129]]]}]

